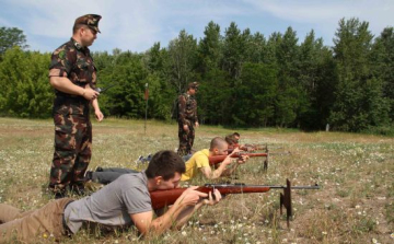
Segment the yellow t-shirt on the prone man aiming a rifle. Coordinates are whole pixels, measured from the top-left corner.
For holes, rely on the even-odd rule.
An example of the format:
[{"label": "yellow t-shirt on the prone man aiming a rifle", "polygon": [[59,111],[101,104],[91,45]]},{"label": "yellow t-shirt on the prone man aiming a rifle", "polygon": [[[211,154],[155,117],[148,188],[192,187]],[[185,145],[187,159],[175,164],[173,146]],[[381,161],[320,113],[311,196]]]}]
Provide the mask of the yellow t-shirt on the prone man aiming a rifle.
[{"label": "yellow t-shirt on the prone man aiming a rifle", "polygon": [[196,152],[193,156],[186,162],[186,172],[182,174],[181,181],[189,181],[201,171],[200,167],[210,167],[209,165],[209,150],[202,149],[201,151]]}]

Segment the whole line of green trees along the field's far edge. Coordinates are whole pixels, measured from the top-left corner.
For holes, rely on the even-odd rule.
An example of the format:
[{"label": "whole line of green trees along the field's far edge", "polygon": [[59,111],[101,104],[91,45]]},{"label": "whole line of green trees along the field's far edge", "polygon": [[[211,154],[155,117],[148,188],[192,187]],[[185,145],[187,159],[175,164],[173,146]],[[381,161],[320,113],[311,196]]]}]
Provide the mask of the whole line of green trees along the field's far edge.
[{"label": "whole line of green trees along the field's far edge", "polygon": [[[169,120],[177,94],[198,81],[202,124],[393,133],[393,27],[373,36],[368,22],[341,19],[333,40],[325,46],[313,30],[299,40],[290,26],[265,37],[234,22],[222,33],[210,22],[199,40],[182,30],[166,47],[97,51],[99,86],[116,84],[101,108],[143,118],[148,83],[148,117]],[[0,30],[0,114],[50,117],[50,54],[26,51],[25,43],[22,31]]]}]

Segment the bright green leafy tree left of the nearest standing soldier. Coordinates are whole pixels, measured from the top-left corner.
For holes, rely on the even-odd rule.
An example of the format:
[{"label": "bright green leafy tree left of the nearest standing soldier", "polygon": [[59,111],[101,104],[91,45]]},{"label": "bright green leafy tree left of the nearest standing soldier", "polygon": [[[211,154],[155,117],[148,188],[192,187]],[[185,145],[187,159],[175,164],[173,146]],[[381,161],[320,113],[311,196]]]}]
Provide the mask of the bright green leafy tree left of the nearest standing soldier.
[{"label": "bright green leafy tree left of the nearest standing soldier", "polygon": [[48,82],[49,54],[8,49],[0,62],[0,112],[7,116],[48,117],[54,93]]}]

